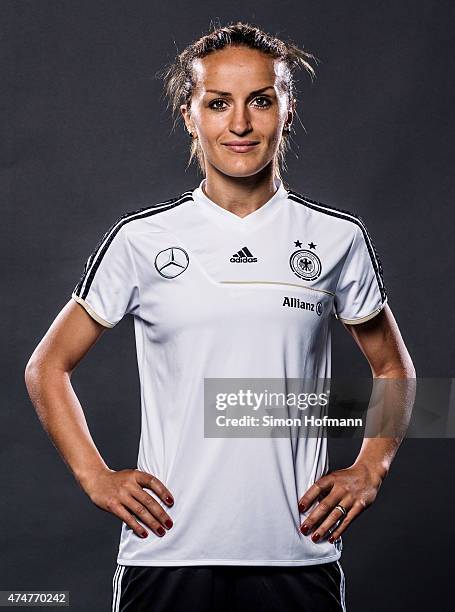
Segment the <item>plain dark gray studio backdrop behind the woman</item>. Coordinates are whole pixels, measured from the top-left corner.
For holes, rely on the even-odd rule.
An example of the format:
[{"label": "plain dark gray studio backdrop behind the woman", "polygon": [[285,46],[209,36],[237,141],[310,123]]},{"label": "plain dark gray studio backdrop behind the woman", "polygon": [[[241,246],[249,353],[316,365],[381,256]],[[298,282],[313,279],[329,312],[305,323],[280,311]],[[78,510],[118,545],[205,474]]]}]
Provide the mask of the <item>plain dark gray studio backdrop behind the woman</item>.
[{"label": "plain dark gray studio backdrop behind the woman", "polygon": [[[74,610],[104,611],[120,521],[78,488],[41,429],[23,369],[110,223],[200,181],[185,171],[188,139],[170,133],[156,71],[217,18],[253,22],[319,57],[316,81],[302,75],[299,84],[306,132],[295,124],[285,178],[362,216],[417,374],[454,376],[454,6],[21,0],[1,8],[0,589],[69,589]],[[333,328],[333,375],[368,375],[351,337]],[[134,467],[130,317],[104,334],[73,384],[108,464]],[[331,447],[331,467],[346,467],[359,440]],[[403,442],[375,504],[344,536],[350,612],[427,610],[436,599],[449,609],[453,448],[453,440]],[[252,500],[251,512],[262,510]]]}]

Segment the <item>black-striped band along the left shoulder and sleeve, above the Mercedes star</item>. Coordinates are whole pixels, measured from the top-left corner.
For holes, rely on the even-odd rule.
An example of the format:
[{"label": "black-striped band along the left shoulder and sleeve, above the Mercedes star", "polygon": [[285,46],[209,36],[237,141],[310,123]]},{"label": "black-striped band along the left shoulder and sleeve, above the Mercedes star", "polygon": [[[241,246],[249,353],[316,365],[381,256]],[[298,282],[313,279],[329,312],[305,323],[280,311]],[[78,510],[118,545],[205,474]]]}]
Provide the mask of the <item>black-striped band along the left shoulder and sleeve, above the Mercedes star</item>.
[{"label": "black-striped band along the left shoulder and sleeve, above the Mercedes star", "polygon": [[184,202],[191,201],[192,199],[192,191],[184,191],[177,197],[170,198],[169,200],[165,200],[164,202],[160,202],[152,206],[143,206],[142,208],[131,210],[117,217],[117,219],[104,233],[102,238],[98,241],[98,244],[95,246],[93,252],[87,259],[82,276],[73,292],[82,299],[87,297],[90,286],[93,282],[93,278],[109,248],[109,245],[112,243],[115,236],[124,225],[134,221],[135,219],[144,219],[145,217],[151,217],[159,214],[160,212],[171,210],[172,208],[180,206]]}]

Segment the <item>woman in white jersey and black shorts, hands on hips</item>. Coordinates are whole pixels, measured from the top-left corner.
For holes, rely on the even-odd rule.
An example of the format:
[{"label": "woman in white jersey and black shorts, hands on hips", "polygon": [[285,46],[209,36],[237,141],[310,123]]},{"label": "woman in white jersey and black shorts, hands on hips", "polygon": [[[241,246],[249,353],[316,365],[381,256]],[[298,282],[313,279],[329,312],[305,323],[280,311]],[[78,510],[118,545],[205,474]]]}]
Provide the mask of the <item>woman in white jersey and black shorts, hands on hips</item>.
[{"label": "woman in white jersey and black shorts, hands on hips", "polygon": [[[364,440],[353,465],[328,472],[324,436],[204,436],[205,379],[330,378],[331,314],[374,377],[414,375],[362,220],[280,178],[293,75],[313,74],[312,58],[242,23],[177,57],[167,92],[204,179],[111,225],[28,364],[56,446],[93,503],[123,521],[114,611],[176,612],[191,597],[199,611],[345,610],[341,534],[374,501],[399,442]],[[127,313],[142,431],[137,469],[114,471],[69,377]]]}]

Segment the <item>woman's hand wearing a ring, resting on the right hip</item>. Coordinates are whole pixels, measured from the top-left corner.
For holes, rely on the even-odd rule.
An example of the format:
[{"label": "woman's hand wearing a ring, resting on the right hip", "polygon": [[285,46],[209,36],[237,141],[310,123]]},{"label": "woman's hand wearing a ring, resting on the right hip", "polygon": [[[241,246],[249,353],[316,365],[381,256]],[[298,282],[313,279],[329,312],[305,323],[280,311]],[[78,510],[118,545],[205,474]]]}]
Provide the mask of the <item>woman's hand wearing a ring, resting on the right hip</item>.
[{"label": "woman's hand wearing a ring, resting on the right hip", "polygon": [[[315,509],[307,516],[300,527],[304,535],[312,533],[313,542],[329,535],[334,542],[346,531],[352,521],[366,510],[376,499],[382,477],[364,463],[357,463],[343,470],[329,472],[319,478],[299,500],[299,510],[304,512],[320,500]],[[340,504],[347,515],[338,508]],[[329,533],[335,523],[342,519],[337,528]]]}]

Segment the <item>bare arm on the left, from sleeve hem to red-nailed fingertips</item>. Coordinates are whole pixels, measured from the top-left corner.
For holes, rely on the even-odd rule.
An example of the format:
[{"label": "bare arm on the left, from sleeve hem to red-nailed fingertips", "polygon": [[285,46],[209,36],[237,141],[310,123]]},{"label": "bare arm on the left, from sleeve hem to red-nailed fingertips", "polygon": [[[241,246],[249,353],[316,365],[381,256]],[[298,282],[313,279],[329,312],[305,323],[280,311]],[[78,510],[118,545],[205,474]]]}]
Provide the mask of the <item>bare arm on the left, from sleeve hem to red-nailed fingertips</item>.
[{"label": "bare arm on the left, from sleeve hem to red-nailed fingertips", "polygon": [[106,465],[71,385],[73,370],[106,329],[71,299],[30,357],[25,384],[45,431],[93,503],[121,518],[137,535],[147,535],[136,520],[140,517],[162,536],[161,524],[169,529],[172,520],[142,487],[153,490],[168,506],[173,504],[170,491],[152,474],[137,469],[116,472]]}]

